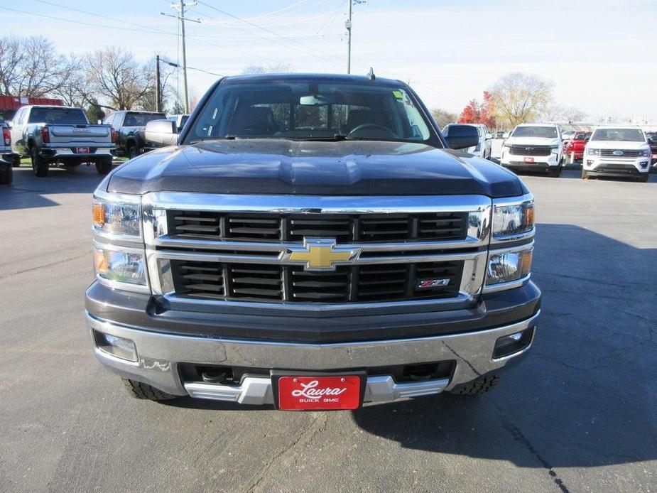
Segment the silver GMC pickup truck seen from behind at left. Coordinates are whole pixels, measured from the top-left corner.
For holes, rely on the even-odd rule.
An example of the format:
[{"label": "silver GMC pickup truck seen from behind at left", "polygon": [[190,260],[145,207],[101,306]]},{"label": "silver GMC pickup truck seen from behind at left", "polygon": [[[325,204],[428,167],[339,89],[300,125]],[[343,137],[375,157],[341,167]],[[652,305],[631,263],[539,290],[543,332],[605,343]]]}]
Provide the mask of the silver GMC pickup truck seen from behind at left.
[{"label": "silver GMC pickup truck seen from behind at left", "polygon": [[11,123],[11,148],[29,156],[37,176],[47,176],[51,164],[95,163],[98,173],[112,170],[116,134],[109,125],[91,125],[80,108],[24,106]]}]

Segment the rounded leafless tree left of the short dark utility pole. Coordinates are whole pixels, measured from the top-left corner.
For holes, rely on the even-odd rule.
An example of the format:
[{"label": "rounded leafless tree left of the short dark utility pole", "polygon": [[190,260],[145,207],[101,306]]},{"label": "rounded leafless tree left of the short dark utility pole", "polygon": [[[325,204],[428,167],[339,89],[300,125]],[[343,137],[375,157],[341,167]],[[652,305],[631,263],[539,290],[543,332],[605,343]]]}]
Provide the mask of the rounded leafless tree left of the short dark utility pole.
[{"label": "rounded leafless tree left of the short dark utility pole", "polygon": [[87,70],[94,93],[117,109],[131,109],[153,90],[153,81],[144,67],[132,53],[119,47],[103,48],[88,55]]}]

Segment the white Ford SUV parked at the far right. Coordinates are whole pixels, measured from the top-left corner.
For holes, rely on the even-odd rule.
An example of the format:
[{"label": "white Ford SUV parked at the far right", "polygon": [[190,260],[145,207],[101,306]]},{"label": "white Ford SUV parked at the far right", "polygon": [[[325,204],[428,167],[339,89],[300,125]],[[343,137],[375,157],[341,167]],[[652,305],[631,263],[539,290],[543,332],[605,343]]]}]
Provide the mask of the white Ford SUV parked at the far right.
[{"label": "white Ford SUV parked at the far right", "polygon": [[631,176],[648,181],[651,151],[648,138],[636,126],[602,126],[584,149],[582,178]]}]

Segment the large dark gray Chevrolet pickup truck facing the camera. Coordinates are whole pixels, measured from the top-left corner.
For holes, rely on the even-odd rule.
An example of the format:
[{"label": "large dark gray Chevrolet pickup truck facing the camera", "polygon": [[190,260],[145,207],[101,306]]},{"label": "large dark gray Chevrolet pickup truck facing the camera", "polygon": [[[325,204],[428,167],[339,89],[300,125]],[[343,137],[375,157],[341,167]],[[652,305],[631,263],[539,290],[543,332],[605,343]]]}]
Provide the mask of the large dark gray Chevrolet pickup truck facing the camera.
[{"label": "large dark gray Chevrolet pickup truck facing the camera", "polygon": [[[173,129],[172,129],[173,131]],[[480,394],[536,335],[534,203],[403,82],[219,80],[94,193],[94,352],[142,399]]]}]

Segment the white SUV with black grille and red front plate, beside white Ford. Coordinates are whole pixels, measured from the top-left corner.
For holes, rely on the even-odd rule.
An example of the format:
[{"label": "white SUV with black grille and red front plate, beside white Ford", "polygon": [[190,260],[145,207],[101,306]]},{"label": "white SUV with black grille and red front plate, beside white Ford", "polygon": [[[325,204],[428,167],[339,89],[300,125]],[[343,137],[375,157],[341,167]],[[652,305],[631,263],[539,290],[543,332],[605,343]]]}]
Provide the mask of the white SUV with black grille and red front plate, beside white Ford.
[{"label": "white SUV with black grille and red front plate, beside white Ford", "polygon": [[561,129],[555,124],[521,124],[502,144],[499,163],[512,170],[547,171],[557,178],[563,168]]}]

